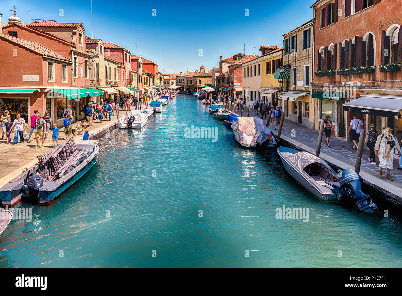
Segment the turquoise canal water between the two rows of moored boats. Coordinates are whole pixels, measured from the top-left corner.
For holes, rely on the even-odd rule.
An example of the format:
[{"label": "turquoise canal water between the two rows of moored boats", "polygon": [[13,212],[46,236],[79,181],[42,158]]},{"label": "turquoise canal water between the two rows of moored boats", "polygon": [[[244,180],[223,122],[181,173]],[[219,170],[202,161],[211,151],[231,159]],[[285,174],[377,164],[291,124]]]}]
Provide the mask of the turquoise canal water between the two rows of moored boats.
[{"label": "turquoise canal water between the two rows of moored boats", "polygon": [[[0,267],[401,266],[393,210],[321,203],[275,150],[241,148],[193,96],[164,109],[100,138],[93,169],[50,206],[22,203],[32,221],[5,230]],[[217,127],[217,141],[185,138],[191,125]],[[282,206],[309,208],[309,221],[276,219]]]}]

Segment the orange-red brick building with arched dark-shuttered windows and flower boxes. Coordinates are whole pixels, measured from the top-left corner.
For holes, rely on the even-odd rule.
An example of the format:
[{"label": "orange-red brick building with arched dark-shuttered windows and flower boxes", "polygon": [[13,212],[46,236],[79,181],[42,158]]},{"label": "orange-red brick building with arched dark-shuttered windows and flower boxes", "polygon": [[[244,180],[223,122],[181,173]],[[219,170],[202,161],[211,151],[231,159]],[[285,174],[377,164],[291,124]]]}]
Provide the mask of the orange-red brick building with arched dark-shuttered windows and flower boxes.
[{"label": "orange-red brick building with arched dark-shuttered windows and flower boxes", "polygon": [[402,0],[318,0],[313,97],[318,118],[331,116],[347,137],[353,114],[365,127],[402,136]]}]

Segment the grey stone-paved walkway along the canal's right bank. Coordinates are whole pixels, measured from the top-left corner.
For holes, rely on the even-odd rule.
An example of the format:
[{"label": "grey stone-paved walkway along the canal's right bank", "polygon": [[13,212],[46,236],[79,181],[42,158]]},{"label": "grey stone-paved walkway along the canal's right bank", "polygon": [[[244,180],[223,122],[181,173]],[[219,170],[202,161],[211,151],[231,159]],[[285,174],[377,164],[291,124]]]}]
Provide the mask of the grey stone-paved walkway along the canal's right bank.
[{"label": "grey stone-paved walkway along the canal's right bank", "polygon": [[[222,105],[222,104],[221,104]],[[232,111],[233,105],[230,107],[230,111]],[[241,110],[239,109],[238,115],[240,115]],[[248,112],[248,106],[244,107],[243,110],[243,116],[247,116]],[[236,113],[236,112],[235,112]],[[259,113],[259,112],[258,112]],[[252,108],[250,108],[250,117],[260,117],[260,115],[254,115],[254,111]],[[268,114],[267,114],[268,118]],[[263,119],[264,123],[267,123],[267,120],[264,118]],[[274,128],[273,125],[269,125],[269,128],[277,135],[279,126],[277,129]],[[282,136],[287,136],[289,138],[295,139],[297,142],[300,142],[306,146],[309,146],[311,148],[314,148],[316,150],[317,148],[317,142],[318,142],[318,131],[314,129],[310,129],[308,127],[305,127],[301,124],[295,123],[293,121],[290,121],[286,119],[283,122],[283,127],[282,127]],[[328,148],[325,145],[325,134],[322,137],[322,145],[321,145],[321,152],[328,154],[340,161],[343,161],[351,166],[355,166],[356,164],[356,153],[357,150],[354,150],[353,143],[346,142],[342,138],[335,138],[331,137],[330,140],[330,148]],[[370,155],[370,150],[365,147],[363,149],[363,154],[362,154],[362,160],[361,160],[361,167],[360,171],[364,171],[365,173],[368,173],[373,176],[377,176],[378,173],[378,157],[376,159],[377,164],[373,165],[369,162],[369,155]],[[395,181],[389,181],[388,179],[385,179],[385,172],[384,170],[384,181],[387,183],[391,183],[394,186],[402,188],[402,171],[397,170],[396,168],[399,166],[399,159],[394,158],[394,169],[391,171],[391,177]]]}]

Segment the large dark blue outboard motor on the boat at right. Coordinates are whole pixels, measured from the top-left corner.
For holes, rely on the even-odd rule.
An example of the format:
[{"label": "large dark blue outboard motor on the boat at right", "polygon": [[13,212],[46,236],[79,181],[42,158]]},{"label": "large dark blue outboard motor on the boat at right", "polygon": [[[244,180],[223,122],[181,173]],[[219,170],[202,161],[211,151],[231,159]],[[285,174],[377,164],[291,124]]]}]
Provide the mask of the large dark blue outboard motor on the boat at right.
[{"label": "large dark blue outboard motor on the boat at right", "polygon": [[361,177],[352,169],[346,169],[339,176],[340,190],[351,197],[360,210],[373,213],[377,206],[371,200],[371,196],[361,191]]}]

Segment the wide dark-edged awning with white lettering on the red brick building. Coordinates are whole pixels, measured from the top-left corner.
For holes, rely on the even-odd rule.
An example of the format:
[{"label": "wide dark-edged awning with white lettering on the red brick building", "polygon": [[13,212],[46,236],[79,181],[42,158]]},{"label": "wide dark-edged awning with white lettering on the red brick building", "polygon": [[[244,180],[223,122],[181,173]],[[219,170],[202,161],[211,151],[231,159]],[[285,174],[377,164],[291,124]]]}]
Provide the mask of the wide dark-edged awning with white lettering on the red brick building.
[{"label": "wide dark-edged awning with white lettering on the red brick building", "polygon": [[343,110],[382,117],[393,117],[402,110],[402,97],[361,95],[360,98],[343,104]]}]

